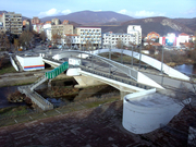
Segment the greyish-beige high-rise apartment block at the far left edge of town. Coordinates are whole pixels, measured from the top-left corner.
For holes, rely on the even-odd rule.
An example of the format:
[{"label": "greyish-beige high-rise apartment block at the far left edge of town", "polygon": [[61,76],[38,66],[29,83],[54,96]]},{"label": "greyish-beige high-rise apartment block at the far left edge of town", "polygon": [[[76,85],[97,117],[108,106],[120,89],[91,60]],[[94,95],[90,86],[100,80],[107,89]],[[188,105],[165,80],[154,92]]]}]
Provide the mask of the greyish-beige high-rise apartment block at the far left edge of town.
[{"label": "greyish-beige high-rise apartment block at the far left edge of town", "polygon": [[5,33],[20,35],[22,34],[23,23],[22,15],[14,12],[8,12],[2,14],[2,23]]}]

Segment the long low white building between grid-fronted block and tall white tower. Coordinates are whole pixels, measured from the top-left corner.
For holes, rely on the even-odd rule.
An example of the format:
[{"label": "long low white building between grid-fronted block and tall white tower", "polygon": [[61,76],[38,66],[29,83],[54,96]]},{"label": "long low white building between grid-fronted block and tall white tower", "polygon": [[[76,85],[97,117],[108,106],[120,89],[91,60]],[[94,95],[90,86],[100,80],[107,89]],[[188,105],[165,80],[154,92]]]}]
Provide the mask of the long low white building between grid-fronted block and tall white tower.
[{"label": "long low white building between grid-fronted block and tall white tower", "polygon": [[136,36],[133,34],[113,34],[112,32],[102,34],[102,48],[117,48],[119,42],[128,47],[136,44]]}]

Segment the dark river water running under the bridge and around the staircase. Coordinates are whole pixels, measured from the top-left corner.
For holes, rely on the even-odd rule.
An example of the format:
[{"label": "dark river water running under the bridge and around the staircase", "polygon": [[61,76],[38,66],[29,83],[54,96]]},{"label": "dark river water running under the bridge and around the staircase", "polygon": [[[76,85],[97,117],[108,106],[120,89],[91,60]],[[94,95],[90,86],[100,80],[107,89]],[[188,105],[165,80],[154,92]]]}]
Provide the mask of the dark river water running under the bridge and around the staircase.
[{"label": "dark river water running under the bridge and around the staircase", "polygon": [[[61,79],[61,81],[52,81],[52,86],[59,86],[59,87],[72,87],[76,84],[76,82],[71,78],[71,79]],[[47,83],[42,84],[42,89],[38,90],[39,94],[45,97],[48,101],[50,101],[54,107],[61,107],[64,106],[69,102],[72,102],[74,100],[81,100],[84,98],[89,98],[89,97],[97,97],[101,98],[103,95],[106,96],[107,94],[112,93],[112,95],[120,95],[119,90],[109,86],[109,85],[102,85],[102,86],[95,86],[95,87],[88,87],[88,88],[82,88],[78,89],[78,93],[73,93],[73,95],[70,96],[64,96],[64,97],[48,97],[47,96]],[[7,97],[9,94],[14,93],[17,89],[17,86],[11,86],[11,87],[0,87],[0,108],[5,108],[5,107],[13,107],[13,106],[24,106],[25,102],[21,103],[10,103],[7,100]],[[77,91],[77,90],[76,90]]]}]

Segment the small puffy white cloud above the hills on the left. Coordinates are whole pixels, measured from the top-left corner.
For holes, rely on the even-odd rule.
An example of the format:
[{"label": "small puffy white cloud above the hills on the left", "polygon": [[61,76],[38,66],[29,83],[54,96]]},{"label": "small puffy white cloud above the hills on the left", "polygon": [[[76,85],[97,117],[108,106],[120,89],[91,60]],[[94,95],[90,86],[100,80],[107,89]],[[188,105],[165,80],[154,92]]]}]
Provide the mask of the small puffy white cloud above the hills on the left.
[{"label": "small puffy white cloud above the hills on the left", "polygon": [[54,8],[48,10],[48,11],[45,11],[45,12],[40,12],[38,15],[39,16],[52,16],[52,15],[62,15],[62,14],[69,14],[71,13],[71,10],[57,10]]}]

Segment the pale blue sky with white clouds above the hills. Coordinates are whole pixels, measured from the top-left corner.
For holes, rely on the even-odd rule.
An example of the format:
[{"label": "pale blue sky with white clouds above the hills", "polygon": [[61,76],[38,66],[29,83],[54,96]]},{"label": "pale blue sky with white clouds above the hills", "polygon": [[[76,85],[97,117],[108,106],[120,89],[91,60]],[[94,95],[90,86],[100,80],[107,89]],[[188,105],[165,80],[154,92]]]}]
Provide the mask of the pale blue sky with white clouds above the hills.
[{"label": "pale blue sky with white clouds above the hills", "polygon": [[39,19],[78,11],[113,11],[136,19],[196,17],[196,0],[0,0],[0,11]]}]

